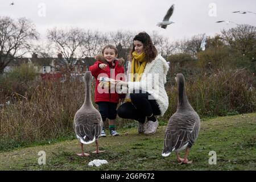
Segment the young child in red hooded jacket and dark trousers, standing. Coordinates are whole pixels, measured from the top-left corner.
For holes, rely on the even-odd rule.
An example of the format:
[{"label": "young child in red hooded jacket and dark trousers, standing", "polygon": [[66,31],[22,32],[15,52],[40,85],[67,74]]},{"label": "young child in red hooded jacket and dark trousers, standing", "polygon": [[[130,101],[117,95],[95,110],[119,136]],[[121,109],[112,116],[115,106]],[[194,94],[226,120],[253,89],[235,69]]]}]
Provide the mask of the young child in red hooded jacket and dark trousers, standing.
[{"label": "young child in red hooded jacket and dark trousers, standing", "polygon": [[[117,117],[119,99],[123,100],[125,95],[119,95],[117,92],[113,92],[113,90],[110,92],[111,86],[102,84],[99,78],[102,76],[102,73],[104,73],[105,77],[115,79],[118,73],[125,72],[123,65],[117,60],[117,56],[117,48],[112,45],[107,45],[102,49],[102,55],[96,56],[96,62],[89,67],[89,71],[92,72],[93,77],[96,78],[94,99],[100,110],[104,125],[106,118],[109,119],[109,131],[112,136],[119,135],[115,130],[115,118]],[[99,89],[104,89],[104,86],[109,89],[109,92],[99,92]],[[106,137],[105,127],[101,132],[101,137]]]}]

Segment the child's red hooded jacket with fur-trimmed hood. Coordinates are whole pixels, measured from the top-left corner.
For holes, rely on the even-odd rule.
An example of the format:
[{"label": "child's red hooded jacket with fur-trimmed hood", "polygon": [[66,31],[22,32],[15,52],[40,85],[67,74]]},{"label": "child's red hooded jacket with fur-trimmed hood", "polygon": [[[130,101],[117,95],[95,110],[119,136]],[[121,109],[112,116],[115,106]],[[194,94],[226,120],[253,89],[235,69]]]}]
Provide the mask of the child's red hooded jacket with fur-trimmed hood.
[{"label": "child's red hooded jacket with fur-trimmed hood", "polygon": [[[123,65],[119,63],[118,60],[114,60],[114,65],[112,65],[111,63],[108,63],[108,61],[106,61],[106,59],[101,55],[96,56],[96,60],[97,61],[92,66],[89,67],[89,71],[92,72],[92,76],[96,80],[94,101],[96,103],[97,102],[118,103],[119,98],[125,98],[125,94],[118,94],[116,91],[114,93],[110,93],[110,87],[109,89],[104,89],[104,87],[98,89],[99,87],[98,85],[100,84],[100,81],[98,80],[98,78],[100,78],[101,76],[105,76],[105,77],[115,79],[118,73],[125,73],[125,69],[123,68]],[[105,69],[101,69],[100,67],[98,67],[98,65],[102,63],[108,65],[108,67],[106,67]],[[112,67],[112,69],[110,69],[110,67]],[[112,74],[112,77],[110,76],[110,72]],[[122,78],[120,78],[120,80],[122,80]],[[101,93],[99,93],[99,90]],[[108,92],[102,93],[103,90],[108,90]]]}]

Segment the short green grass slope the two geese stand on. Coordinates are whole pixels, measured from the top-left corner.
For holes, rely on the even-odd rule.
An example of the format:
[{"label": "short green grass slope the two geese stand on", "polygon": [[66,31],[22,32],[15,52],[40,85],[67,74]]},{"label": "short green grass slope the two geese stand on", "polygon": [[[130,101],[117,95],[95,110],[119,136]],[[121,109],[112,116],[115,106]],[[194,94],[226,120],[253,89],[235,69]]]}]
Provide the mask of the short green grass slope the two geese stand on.
[{"label": "short green grass slope the two geese stand on", "polygon": [[[121,136],[100,138],[101,154],[92,154],[95,143],[85,146],[90,156],[80,158],[77,140],[19,148],[0,153],[1,170],[255,170],[256,113],[218,117],[201,121],[199,138],[189,155],[192,164],[179,165],[175,155],[163,158],[160,126],[155,135],[137,134],[136,127],[119,130]],[[46,152],[46,165],[38,164],[38,152]],[[216,151],[217,164],[209,165],[209,151]],[[184,155],[184,152],[181,153]],[[109,163],[89,167],[93,159]]]}]

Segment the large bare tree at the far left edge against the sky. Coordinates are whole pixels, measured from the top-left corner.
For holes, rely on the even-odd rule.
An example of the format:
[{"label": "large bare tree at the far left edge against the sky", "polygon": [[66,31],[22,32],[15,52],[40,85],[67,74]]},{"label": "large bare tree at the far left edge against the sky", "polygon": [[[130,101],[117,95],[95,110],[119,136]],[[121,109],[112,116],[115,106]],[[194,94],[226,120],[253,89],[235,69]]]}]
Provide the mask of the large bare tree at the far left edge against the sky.
[{"label": "large bare tree at the far left edge against the sky", "polygon": [[19,18],[15,21],[0,16],[0,74],[16,57],[29,52],[32,41],[38,38],[39,34],[30,20]]}]

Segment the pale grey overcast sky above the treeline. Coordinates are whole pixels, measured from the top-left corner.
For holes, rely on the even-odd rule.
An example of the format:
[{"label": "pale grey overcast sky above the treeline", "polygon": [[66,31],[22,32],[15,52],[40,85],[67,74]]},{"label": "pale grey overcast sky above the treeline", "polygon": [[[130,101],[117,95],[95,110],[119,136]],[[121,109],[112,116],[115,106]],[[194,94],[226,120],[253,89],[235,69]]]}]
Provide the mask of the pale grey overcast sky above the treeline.
[{"label": "pale grey overcast sky above the treeline", "polygon": [[[11,6],[10,3],[14,2]],[[175,4],[171,24],[166,30],[157,27],[169,7]],[[192,35],[214,35],[235,24],[214,23],[231,20],[256,26],[256,14],[233,14],[253,11],[255,0],[0,0],[0,16],[26,17],[45,37],[48,28],[80,27],[98,31],[157,31],[171,40]]]}]

